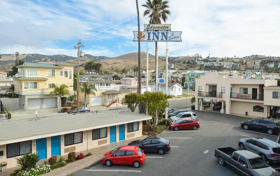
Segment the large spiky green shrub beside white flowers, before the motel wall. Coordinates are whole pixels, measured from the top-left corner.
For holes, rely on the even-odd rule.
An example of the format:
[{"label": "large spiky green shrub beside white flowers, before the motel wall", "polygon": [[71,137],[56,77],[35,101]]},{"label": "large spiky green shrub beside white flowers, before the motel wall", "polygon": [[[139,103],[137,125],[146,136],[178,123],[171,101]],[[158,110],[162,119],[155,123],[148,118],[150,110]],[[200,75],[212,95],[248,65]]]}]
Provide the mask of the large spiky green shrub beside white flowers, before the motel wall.
[{"label": "large spiky green shrub beside white flowers, before the motel wall", "polygon": [[36,167],[36,163],[39,161],[39,156],[36,153],[26,153],[22,155],[18,160],[18,166],[21,166],[21,170],[30,170]]}]

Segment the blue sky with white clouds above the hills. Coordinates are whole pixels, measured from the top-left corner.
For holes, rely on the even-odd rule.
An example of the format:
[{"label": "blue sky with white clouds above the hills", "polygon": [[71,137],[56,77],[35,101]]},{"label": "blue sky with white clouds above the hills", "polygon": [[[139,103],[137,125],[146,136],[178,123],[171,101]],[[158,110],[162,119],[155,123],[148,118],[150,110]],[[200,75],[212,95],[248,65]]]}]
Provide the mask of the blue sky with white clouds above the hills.
[{"label": "blue sky with white clouds above the hills", "polygon": [[[139,0],[140,30],[148,23]],[[170,0],[166,24],[182,31],[182,42],[168,42],[169,56],[280,56],[279,0]],[[116,57],[138,51],[134,0],[1,0],[0,54],[37,53]],[[164,23],[162,21],[162,23]],[[155,54],[154,42],[149,53]],[[145,52],[146,42],[141,42]],[[166,42],[159,42],[165,55]]]}]

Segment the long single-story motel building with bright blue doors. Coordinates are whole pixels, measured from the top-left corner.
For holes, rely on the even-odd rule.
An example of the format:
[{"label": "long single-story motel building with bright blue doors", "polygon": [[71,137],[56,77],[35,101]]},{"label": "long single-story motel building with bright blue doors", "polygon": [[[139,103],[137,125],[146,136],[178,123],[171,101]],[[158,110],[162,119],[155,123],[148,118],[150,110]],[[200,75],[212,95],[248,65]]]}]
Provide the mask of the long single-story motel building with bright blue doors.
[{"label": "long single-story motel building with bright blue doors", "polygon": [[152,117],[129,110],[67,114],[37,119],[1,121],[0,163],[17,165],[25,153],[40,155],[38,164],[52,156],[86,154],[89,149],[142,136],[142,121]]}]

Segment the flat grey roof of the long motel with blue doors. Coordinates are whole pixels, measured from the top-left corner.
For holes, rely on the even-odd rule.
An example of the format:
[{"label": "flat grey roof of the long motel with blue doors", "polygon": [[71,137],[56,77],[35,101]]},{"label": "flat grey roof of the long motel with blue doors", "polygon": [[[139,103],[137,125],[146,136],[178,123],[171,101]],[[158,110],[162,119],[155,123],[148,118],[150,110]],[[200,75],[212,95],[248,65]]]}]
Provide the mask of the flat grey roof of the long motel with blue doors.
[{"label": "flat grey roof of the long motel with blue doors", "polygon": [[0,145],[152,119],[130,110],[106,110],[0,121]]}]

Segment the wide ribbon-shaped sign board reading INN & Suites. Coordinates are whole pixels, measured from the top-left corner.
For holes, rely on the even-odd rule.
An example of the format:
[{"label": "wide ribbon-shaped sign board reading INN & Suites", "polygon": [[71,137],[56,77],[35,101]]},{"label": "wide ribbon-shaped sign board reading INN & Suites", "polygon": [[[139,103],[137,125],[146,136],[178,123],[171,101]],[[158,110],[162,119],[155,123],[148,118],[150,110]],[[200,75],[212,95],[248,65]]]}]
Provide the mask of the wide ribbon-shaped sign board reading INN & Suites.
[{"label": "wide ribbon-shaped sign board reading INN & Suites", "polygon": [[[133,31],[133,41],[138,41],[138,31]],[[140,31],[140,41],[182,41],[182,31]]]}]

